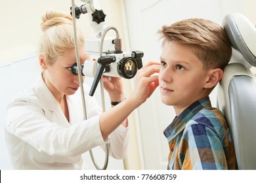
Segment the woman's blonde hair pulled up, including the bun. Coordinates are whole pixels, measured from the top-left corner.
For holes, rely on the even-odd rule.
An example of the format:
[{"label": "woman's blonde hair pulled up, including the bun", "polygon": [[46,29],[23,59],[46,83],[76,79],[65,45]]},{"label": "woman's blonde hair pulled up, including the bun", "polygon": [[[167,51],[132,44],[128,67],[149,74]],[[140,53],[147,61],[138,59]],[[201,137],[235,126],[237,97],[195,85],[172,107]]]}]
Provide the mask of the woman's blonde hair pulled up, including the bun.
[{"label": "woman's blonde hair pulled up, including the bun", "polygon": [[[67,50],[74,48],[74,28],[70,12],[50,9],[42,16],[41,30],[43,35],[39,46],[39,52],[43,54],[49,65],[56,58],[63,56]],[[77,31],[77,42],[83,45],[84,37]]]}]

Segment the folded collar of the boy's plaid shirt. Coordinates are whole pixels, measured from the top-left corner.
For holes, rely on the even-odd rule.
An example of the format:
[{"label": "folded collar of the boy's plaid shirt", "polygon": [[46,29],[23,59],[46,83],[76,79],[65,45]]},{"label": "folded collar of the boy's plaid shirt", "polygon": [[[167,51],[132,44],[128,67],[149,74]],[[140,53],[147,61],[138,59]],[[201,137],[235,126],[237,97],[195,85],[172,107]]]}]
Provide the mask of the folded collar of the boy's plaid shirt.
[{"label": "folded collar of the boy's plaid shirt", "polygon": [[174,139],[176,135],[184,129],[189,120],[205,107],[211,107],[209,97],[204,97],[199,101],[192,103],[192,105],[183,110],[179,116],[176,116],[173,122],[163,131],[163,134],[168,141]]}]

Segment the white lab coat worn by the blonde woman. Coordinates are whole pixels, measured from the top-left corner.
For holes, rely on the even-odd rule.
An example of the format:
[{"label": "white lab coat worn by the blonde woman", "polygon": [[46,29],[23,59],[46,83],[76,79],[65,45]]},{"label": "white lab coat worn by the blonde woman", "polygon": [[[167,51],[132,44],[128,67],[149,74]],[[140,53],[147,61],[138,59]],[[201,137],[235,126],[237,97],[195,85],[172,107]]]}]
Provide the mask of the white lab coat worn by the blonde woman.
[{"label": "white lab coat worn by the blonde woman", "polygon": [[[85,85],[85,84],[84,84]],[[81,94],[67,97],[70,123],[40,77],[18,95],[7,108],[5,135],[14,169],[83,169],[81,154],[110,142],[110,156],[125,158],[129,127],[119,125],[102,139],[98,104],[85,85],[88,120],[83,120]]]}]

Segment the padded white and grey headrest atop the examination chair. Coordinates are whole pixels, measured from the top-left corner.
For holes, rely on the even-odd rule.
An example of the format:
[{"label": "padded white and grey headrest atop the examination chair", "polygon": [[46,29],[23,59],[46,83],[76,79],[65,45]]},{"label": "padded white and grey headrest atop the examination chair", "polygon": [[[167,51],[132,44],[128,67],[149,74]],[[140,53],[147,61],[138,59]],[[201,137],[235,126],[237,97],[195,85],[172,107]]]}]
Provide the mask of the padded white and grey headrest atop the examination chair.
[{"label": "padded white and grey headrest atop the examination chair", "polygon": [[256,67],[256,28],[241,13],[227,14],[223,20],[232,47],[240,52],[247,62]]}]

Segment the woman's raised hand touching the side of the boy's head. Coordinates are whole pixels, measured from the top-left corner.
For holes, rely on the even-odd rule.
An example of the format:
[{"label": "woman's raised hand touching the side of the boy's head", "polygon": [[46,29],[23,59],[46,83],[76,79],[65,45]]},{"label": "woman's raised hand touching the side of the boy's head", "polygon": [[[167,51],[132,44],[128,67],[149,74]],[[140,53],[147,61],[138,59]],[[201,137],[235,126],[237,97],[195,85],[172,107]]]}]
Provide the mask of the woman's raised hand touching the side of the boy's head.
[{"label": "woman's raised hand touching the side of the boy's head", "polygon": [[139,105],[144,103],[158,87],[158,75],[154,74],[158,74],[160,72],[160,67],[160,63],[150,61],[138,71],[135,89],[131,97],[136,98],[135,101],[137,101]]}]

